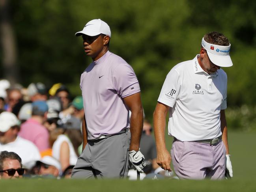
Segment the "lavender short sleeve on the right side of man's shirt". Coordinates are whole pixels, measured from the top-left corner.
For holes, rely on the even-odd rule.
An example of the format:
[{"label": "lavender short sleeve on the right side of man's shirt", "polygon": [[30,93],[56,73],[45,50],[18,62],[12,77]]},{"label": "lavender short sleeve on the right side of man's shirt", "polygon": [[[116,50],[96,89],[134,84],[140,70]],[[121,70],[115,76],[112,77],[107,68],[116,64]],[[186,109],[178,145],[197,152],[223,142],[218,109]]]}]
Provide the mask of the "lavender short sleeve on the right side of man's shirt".
[{"label": "lavender short sleeve on the right side of man's shirt", "polygon": [[138,79],[133,68],[127,64],[120,64],[114,71],[114,87],[122,98],[140,92]]}]

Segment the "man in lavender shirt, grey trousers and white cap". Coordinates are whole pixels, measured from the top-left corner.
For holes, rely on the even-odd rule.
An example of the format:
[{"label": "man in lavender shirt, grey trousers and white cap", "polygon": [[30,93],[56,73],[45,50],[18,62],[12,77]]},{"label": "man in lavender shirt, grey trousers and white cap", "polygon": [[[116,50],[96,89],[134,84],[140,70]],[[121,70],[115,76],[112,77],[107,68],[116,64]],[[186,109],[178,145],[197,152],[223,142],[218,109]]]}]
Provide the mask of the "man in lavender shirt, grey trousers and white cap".
[{"label": "man in lavender shirt, grey trousers and white cap", "polygon": [[93,62],[80,79],[83,152],[72,177],[124,178],[128,159],[142,173],[144,156],[139,145],[143,109],[133,68],[108,51],[111,32],[106,22],[93,19],[75,35],[82,35],[84,52]]}]

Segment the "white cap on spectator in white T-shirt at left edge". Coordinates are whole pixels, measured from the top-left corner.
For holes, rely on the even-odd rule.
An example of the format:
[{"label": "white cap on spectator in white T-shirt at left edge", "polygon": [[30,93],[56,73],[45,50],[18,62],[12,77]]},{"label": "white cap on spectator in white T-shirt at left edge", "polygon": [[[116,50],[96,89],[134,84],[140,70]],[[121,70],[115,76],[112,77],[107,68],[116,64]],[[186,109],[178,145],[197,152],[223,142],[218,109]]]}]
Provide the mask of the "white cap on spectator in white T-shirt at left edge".
[{"label": "white cap on spectator in white T-shirt at left edge", "polygon": [[0,132],[6,132],[14,125],[19,125],[20,121],[11,112],[4,111],[0,114]]}]

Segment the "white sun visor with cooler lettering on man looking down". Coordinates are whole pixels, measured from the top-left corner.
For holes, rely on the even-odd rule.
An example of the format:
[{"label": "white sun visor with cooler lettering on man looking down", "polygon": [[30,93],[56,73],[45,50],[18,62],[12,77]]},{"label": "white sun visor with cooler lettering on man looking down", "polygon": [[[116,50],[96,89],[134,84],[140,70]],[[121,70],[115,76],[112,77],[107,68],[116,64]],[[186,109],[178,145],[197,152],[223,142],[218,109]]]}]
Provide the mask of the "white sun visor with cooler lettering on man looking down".
[{"label": "white sun visor with cooler lettering on man looking down", "polygon": [[202,46],[207,50],[207,54],[211,62],[220,67],[231,67],[233,65],[229,56],[230,44],[228,46],[215,45],[207,43],[202,38]]}]

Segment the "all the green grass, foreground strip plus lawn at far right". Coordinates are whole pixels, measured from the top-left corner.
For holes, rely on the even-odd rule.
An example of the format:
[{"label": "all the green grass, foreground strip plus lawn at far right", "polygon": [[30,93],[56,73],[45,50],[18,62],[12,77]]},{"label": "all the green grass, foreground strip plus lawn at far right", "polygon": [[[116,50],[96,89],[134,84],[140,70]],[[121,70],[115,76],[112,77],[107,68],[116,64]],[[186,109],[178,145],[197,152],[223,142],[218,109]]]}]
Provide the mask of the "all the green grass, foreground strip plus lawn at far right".
[{"label": "all the green grass, foreground strip plus lawn at far right", "polygon": [[[55,179],[19,179],[0,180],[1,192],[255,192],[256,165],[255,144],[256,133],[230,132],[228,135],[234,178],[222,181],[193,180],[55,180]],[[172,139],[168,138],[168,149]]]}]

